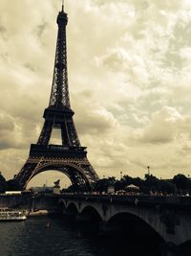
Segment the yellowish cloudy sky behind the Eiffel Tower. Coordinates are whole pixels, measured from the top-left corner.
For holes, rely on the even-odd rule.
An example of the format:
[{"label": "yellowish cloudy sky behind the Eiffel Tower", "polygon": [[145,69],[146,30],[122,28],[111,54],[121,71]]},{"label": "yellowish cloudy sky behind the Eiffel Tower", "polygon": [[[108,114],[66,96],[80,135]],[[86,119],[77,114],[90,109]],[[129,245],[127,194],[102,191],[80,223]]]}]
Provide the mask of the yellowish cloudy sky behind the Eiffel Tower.
[{"label": "yellowish cloudy sky behind the Eiffel Tower", "polygon": [[[0,1],[0,171],[11,178],[43,125],[61,0]],[[73,0],[69,86],[97,174],[191,174],[191,1]],[[49,172],[48,172],[49,173]],[[39,175],[32,184],[61,177]],[[64,181],[66,182],[66,181]]]}]

